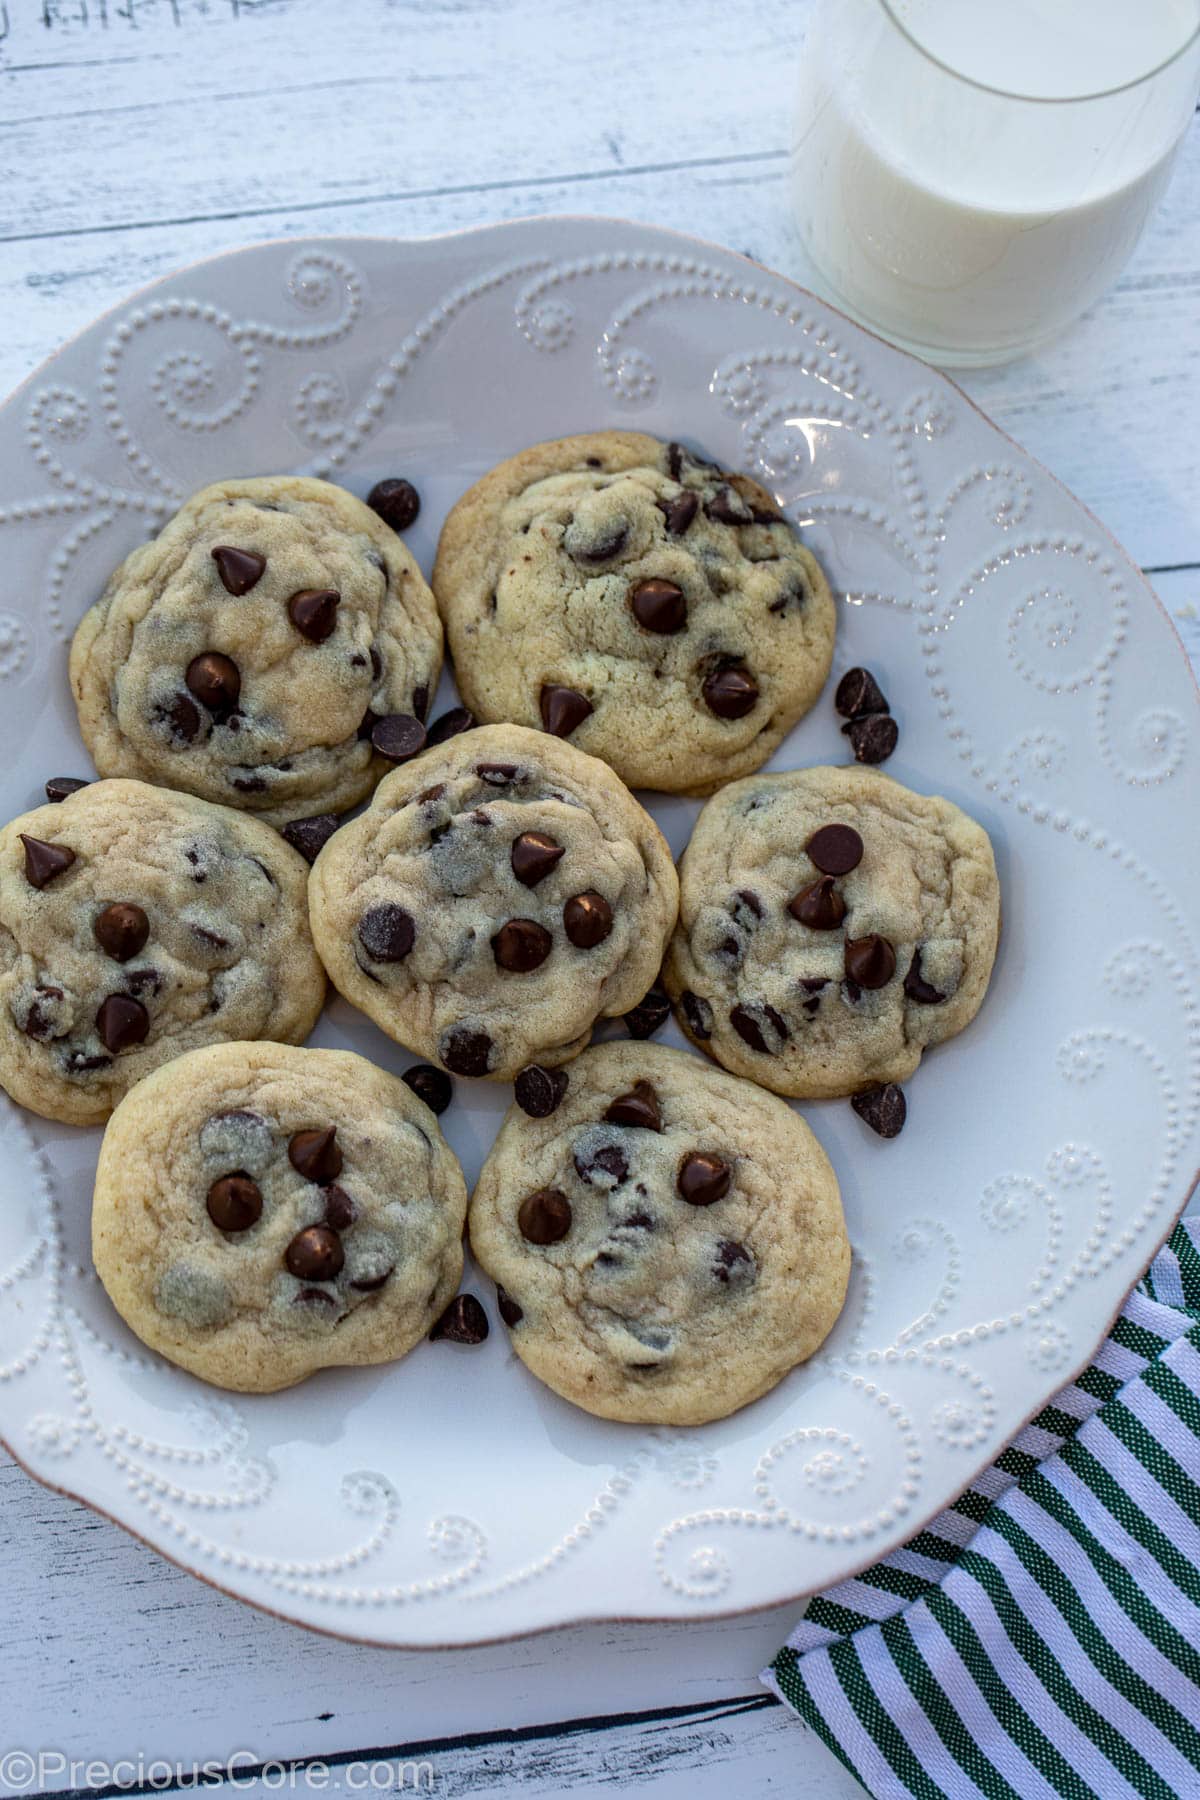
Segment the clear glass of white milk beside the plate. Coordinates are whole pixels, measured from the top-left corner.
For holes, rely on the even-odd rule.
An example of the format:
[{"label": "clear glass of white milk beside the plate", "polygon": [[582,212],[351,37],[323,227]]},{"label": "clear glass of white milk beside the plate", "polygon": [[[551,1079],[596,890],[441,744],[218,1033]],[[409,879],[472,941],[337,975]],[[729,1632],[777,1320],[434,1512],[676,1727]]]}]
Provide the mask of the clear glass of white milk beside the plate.
[{"label": "clear glass of white milk beside the plate", "polygon": [[813,0],[795,218],[835,306],[945,365],[1117,277],[1200,92],[1200,0]]}]

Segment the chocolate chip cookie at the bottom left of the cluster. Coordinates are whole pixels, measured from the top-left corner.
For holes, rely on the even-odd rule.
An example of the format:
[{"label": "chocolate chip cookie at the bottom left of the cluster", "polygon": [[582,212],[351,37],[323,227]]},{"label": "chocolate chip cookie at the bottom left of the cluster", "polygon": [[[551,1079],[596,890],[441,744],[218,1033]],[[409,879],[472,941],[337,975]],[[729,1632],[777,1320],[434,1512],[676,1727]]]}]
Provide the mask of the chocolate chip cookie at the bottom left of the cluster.
[{"label": "chocolate chip cookie at the bottom left of the cluster", "polygon": [[95,1172],[126,1325],[218,1388],[390,1363],[459,1285],[466,1184],[403,1082],[344,1049],[216,1044],[140,1082]]}]

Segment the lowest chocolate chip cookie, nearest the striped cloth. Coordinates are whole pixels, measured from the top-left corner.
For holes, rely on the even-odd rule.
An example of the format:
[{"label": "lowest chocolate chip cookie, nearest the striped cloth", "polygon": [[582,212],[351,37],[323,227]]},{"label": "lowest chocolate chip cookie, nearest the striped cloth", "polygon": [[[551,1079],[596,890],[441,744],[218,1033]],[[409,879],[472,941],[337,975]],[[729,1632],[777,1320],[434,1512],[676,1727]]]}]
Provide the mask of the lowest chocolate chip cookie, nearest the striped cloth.
[{"label": "lowest chocolate chip cookie, nearest the striped cloth", "polygon": [[515,1105],[471,1199],[513,1348],[603,1418],[696,1426],[833,1328],[842,1201],[808,1125],[678,1049],[601,1044],[543,1118]]}]

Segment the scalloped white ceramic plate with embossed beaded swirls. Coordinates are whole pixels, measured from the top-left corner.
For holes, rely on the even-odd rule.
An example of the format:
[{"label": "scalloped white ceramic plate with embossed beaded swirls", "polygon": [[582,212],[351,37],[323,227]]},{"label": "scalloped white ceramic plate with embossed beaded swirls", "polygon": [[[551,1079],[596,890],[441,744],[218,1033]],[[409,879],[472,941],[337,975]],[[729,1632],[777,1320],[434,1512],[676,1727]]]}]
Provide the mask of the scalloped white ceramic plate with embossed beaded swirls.
[{"label": "scalloped white ceramic plate with embossed beaded swirls", "polygon": [[[142,1354],[95,1282],[99,1132],[0,1096],[4,1440],[230,1593],[381,1643],[707,1618],[876,1559],[1087,1361],[1198,1161],[1200,736],[1166,616],[950,382],[667,232],[261,245],[68,344],[0,414],[4,817],[90,772],[70,632],[201,482],[410,475],[428,567],[489,464],[601,425],[687,437],[786,504],[844,598],[835,679],[867,662],[898,713],[889,772],[991,833],[1004,938],[901,1138],[844,1102],[804,1109],[846,1199],[846,1312],[772,1395],[687,1433],[538,1386],[473,1273],[482,1348],[225,1399]],[[846,758],[831,693],[777,767]],[[653,810],[680,851],[696,806]],[[412,1062],[340,1001],[317,1042]],[[443,1123],[468,1179],[507,1098],[457,1084]]]}]

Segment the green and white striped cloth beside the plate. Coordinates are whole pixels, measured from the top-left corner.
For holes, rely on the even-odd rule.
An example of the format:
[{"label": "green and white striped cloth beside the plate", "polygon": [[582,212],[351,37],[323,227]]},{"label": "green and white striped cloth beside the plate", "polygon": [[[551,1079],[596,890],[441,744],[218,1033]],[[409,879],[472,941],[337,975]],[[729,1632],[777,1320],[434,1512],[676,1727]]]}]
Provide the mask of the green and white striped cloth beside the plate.
[{"label": "green and white striped cloth beside the plate", "polygon": [[1198,1800],[1200,1220],[925,1532],[765,1683],[876,1800]]}]

